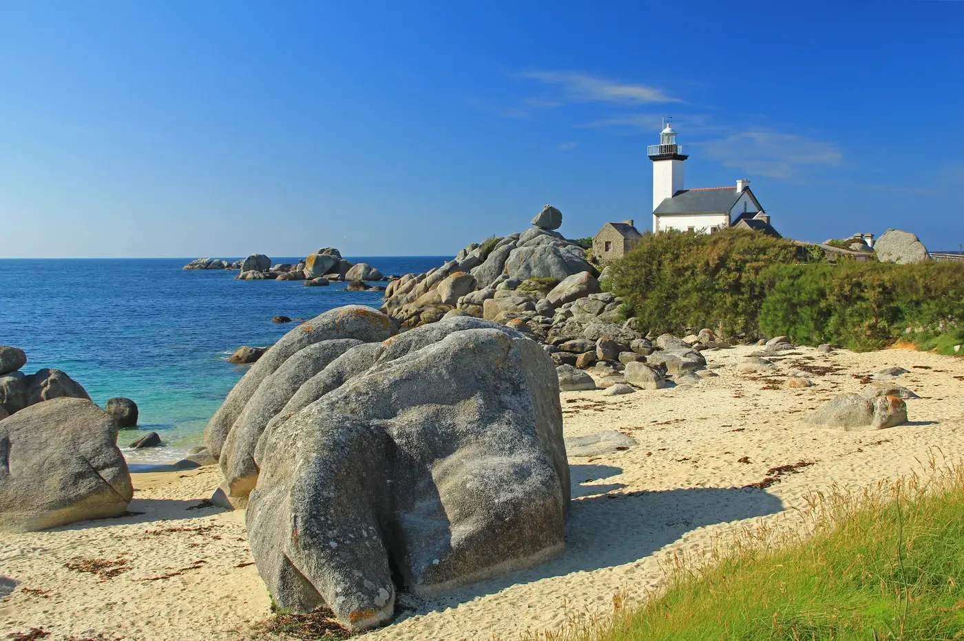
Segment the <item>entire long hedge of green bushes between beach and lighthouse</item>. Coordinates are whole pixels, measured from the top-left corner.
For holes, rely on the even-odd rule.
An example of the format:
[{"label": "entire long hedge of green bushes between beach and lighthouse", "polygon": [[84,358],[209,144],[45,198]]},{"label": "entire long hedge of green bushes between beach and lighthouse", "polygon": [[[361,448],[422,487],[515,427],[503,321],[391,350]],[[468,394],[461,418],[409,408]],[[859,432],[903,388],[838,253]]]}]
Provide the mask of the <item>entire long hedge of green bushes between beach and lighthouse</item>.
[{"label": "entire long hedge of green bushes between beach and lighthouse", "polygon": [[906,338],[941,353],[961,344],[964,264],[800,256],[788,241],[738,229],[648,234],[613,265],[611,290],[627,301],[626,316],[656,334],[711,327],[856,350]]}]

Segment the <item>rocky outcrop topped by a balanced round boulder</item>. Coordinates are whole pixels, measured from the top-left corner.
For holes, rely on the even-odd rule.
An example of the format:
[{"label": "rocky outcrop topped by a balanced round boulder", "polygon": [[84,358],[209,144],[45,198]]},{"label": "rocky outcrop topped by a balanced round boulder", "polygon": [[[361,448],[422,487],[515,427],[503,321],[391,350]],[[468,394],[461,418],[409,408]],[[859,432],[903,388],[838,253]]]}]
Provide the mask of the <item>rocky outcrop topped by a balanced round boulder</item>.
[{"label": "rocky outcrop topped by a balanced round boulder", "polygon": [[[497,304],[502,312],[499,321],[522,320],[514,323],[515,328],[545,325],[552,312],[566,302],[547,300],[561,281],[580,273],[595,281],[599,275],[582,245],[554,231],[561,224],[562,213],[546,205],[525,231],[469,244],[439,268],[392,280],[382,311],[409,328],[441,321],[446,315],[494,318]],[[599,292],[598,282],[595,287]],[[500,302],[488,304],[491,311],[487,316],[486,301],[495,298]],[[540,305],[540,301],[545,302]],[[542,319],[533,321],[536,317]]]}]

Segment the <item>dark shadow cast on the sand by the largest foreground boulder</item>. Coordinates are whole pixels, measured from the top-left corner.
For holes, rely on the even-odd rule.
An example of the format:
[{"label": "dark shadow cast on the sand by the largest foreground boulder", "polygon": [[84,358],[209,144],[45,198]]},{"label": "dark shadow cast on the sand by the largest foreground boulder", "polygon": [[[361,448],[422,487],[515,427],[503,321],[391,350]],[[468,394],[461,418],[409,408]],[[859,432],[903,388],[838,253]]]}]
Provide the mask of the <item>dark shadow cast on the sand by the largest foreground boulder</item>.
[{"label": "dark shadow cast on the sand by the largest foreground boulder", "polygon": [[619,470],[609,466],[571,467],[574,500],[570,505],[566,551],[562,556],[528,570],[473,583],[431,601],[415,601],[412,604],[417,609],[406,611],[396,621],[467,603],[518,583],[632,563],[680,540],[683,534],[697,527],[775,514],[784,509],[782,500],[756,488],[696,487],[576,498],[576,487],[580,492],[587,487],[578,481],[583,477],[603,477],[601,472],[605,470],[599,468]]}]

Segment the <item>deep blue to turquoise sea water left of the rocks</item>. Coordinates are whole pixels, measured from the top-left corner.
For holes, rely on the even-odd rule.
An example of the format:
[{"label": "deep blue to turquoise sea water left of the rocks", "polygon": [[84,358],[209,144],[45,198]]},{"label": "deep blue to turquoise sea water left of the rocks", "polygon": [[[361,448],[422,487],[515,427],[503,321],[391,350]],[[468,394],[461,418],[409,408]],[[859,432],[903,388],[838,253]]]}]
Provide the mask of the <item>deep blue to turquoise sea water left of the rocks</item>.
[{"label": "deep blue to turquoise sea water left of the rocks", "polygon": [[[346,259],[404,274],[450,257]],[[273,317],[309,319],[341,305],[382,302],[382,292],[348,292],[345,283],[302,287],[240,281],[237,271],[182,270],[189,261],[0,260],[0,345],[27,352],[24,372],[67,372],[101,406],[110,397],[133,398],[141,429],[156,430],[167,447],[123,448],[131,463],[172,462],[201,444],[205,424],[247,371],[230,365],[228,355],[243,345],[272,345],[295,326]],[[137,436],[123,431],[119,445]]]}]

